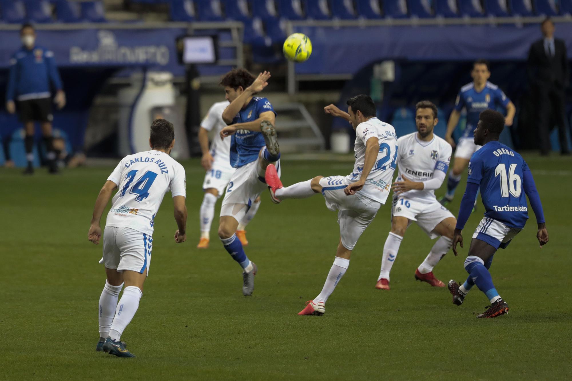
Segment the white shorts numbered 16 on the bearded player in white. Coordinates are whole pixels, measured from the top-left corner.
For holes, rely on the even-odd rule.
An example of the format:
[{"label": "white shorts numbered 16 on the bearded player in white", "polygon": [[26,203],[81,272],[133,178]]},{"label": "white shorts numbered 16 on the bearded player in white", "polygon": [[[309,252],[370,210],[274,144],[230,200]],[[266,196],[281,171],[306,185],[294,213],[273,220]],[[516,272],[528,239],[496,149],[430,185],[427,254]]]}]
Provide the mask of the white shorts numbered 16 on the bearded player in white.
[{"label": "white shorts numbered 16 on the bearded player in white", "polygon": [[444,219],[455,218],[447,208],[443,207],[437,199],[408,199],[404,196],[397,196],[393,199],[391,217],[406,217],[409,225],[415,221],[430,239],[435,239],[439,235],[433,229]]}]

